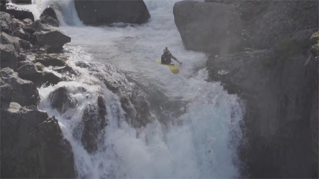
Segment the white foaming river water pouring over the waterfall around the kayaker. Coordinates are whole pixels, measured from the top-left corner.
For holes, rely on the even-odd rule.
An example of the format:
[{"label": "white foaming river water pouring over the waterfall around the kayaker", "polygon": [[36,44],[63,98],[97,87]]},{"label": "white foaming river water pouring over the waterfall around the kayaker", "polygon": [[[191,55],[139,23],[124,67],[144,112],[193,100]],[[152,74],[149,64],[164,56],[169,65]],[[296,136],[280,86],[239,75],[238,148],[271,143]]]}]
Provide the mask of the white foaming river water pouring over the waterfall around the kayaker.
[{"label": "white foaming river water pouring over the waterfall around the kayaker", "polygon": [[[34,1],[30,9],[37,19],[46,1]],[[52,3],[52,2],[51,2]],[[143,25],[82,25],[73,1],[54,2],[61,10],[61,30],[72,40],[66,44],[68,64],[79,72],[73,81],[39,89],[39,108],[55,115],[71,145],[79,178],[232,178],[239,177],[236,149],[242,138],[239,123],[243,107],[236,95],[229,95],[219,82],[206,82],[206,56],[187,51],[174,24],[173,1],[145,1],[151,18]],[[36,8],[35,8],[36,7]],[[63,15],[63,16],[62,16]],[[174,75],[155,60],[163,48],[183,62]],[[75,65],[85,61],[103,73],[116,67],[149,94],[160,90],[170,100],[187,102],[186,112],[166,123],[154,120],[133,128],[125,121],[119,97],[108,90],[92,71]],[[64,86],[78,101],[75,108],[60,114],[52,109],[50,93]],[[81,90],[82,88],[85,91]],[[153,93],[154,92],[154,93]],[[99,136],[98,150],[88,153],[82,143],[82,113],[102,95],[108,125]],[[153,95],[161,99],[161,95]],[[160,104],[158,104],[160,105]],[[162,106],[161,106],[162,107]],[[183,110],[185,106],[177,106]],[[181,121],[175,123],[171,121]]]}]

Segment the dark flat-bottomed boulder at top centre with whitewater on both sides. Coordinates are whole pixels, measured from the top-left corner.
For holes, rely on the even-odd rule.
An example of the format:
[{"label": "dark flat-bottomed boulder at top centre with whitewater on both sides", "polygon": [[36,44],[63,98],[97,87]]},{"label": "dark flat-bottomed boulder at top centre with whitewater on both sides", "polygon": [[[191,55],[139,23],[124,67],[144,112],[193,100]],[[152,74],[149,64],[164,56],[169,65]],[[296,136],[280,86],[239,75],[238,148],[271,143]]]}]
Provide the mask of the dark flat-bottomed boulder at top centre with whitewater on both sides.
[{"label": "dark flat-bottomed boulder at top centre with whitewater on both sides", "polygon": [[115,22],[143,24],[150,17],[144,1],[74,1],[84,24],[101,25]]}]

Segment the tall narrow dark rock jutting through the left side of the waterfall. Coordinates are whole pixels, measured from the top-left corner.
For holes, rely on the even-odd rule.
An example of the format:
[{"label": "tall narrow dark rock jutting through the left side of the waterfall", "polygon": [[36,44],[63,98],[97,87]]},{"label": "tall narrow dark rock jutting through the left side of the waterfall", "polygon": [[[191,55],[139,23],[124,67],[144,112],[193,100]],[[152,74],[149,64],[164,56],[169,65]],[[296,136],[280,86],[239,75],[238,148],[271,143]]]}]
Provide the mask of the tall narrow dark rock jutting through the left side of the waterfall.
[{"label": "tall narrow dark rock jutting through the left side of the waterfall", "polygon": [[95,152],[98,149],[99,134],[107,125],[106,107],[103,97],[99,96],[97,105],[88,105],[83,111],[82,144],[88,152]]}]

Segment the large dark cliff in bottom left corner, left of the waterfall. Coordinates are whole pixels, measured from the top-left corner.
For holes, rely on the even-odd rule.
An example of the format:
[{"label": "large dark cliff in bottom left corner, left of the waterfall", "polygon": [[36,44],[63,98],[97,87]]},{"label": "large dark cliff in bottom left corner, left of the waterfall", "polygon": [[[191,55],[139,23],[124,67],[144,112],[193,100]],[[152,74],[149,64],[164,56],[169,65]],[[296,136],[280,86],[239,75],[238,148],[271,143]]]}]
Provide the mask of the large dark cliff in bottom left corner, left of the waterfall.
[{"label": "large dark cliff in bottom left corner, left of the waterfall", "polygon": [[22,111],[17,103],[1,109],[1,169],[4,178],[76,177],[58,121],[44,111]]}]

